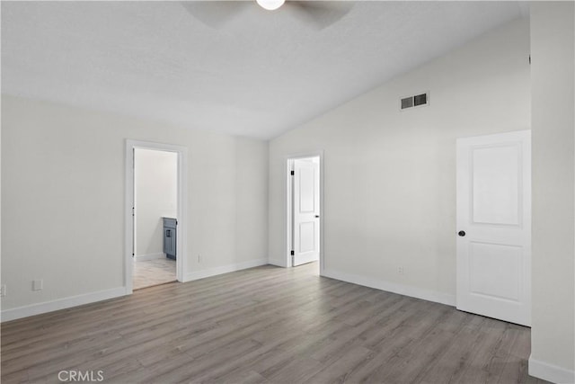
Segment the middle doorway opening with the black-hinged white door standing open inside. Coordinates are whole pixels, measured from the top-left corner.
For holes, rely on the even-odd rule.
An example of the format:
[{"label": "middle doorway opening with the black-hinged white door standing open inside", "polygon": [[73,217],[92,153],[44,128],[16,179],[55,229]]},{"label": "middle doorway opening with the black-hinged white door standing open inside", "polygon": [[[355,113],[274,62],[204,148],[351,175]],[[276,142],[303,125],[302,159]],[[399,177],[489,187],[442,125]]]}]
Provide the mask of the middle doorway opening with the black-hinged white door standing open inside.
[{"label": "middle doorway opening with the black-hinged white door standing open inside", "polygon": [[322,154],[290,156],[287,188],[288,266],[323,266]]}]

